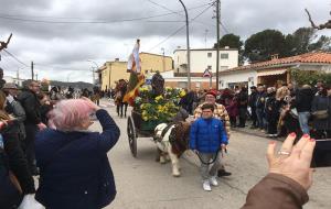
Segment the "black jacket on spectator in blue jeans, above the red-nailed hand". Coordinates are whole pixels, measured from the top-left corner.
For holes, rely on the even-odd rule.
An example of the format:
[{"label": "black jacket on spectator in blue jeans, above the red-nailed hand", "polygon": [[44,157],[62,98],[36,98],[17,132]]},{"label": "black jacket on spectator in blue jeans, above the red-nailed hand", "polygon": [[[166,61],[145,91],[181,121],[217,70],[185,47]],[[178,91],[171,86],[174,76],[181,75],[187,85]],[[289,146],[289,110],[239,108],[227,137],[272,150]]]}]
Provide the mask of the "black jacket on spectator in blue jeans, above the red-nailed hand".
[{"label": "black jacket on spectator in blue jeans, above the red-nailed hand", "polygon": [[313,92],[310,88],[300,89],[296,95],[296,108],[298,112],[310,112]]}]

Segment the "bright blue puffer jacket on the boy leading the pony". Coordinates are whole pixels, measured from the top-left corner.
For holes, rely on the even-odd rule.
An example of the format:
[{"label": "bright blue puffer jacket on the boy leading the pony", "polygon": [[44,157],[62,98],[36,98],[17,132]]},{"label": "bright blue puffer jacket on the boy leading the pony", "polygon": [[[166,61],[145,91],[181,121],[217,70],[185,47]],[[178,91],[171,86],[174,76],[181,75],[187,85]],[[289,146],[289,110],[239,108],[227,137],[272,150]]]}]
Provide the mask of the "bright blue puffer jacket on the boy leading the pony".
[{"label": "bright blue puffer jacket on the boy leading the pony", "polygon": [[190,130],[190,148],[202,153],[215,153],[221,144],[227,144],[224,125],[218,119],[197,119]]}]

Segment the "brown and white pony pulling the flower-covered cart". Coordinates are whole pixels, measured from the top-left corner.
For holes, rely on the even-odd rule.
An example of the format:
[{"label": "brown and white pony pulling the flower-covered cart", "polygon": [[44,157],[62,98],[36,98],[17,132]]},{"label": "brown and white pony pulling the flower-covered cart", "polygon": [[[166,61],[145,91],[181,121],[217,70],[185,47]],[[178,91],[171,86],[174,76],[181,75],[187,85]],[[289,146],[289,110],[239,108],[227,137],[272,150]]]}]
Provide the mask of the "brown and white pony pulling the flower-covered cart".
[{"label": "brown and white pony pulling the flower-covered cart", "polygon": [[153,140],[158,147],[159,162],[167,163],[168,157],[172,164],[172,175],[179,177],[179,157],[189,150],[190,122],[160,123],[154,129]]}]

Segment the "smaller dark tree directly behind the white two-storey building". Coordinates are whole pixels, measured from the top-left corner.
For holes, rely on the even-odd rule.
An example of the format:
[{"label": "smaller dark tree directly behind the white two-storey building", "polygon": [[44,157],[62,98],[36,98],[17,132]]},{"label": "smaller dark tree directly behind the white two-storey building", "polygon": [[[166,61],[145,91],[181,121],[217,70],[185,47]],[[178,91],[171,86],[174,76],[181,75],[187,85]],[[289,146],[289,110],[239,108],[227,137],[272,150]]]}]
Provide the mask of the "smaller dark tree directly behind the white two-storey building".
[{"label": "smaller dark tree directly behind the white two-storey building", "polygon": [[[241,41],[241,36],[235,35],[233,33],[223,35],[222,38],[218,41],[220,48],[228,46],[231,48],[238,48],[239,53],[239,65],[244,64],[244,51],[243,51],[244,43]],[[214,48],[217,47],[217,44],[214,44]]]}]

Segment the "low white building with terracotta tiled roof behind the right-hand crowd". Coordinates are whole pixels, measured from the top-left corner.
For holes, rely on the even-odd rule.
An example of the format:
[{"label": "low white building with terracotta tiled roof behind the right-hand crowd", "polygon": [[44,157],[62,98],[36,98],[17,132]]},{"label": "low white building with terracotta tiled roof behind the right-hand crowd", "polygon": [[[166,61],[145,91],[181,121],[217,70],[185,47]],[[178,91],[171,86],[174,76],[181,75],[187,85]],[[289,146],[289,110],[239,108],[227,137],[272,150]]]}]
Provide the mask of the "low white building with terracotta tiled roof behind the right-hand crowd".
[{"label": "low white building with terracotta tiled roof behind the right-hand crowd", "polygon": [[331,73],[331,53],[312,52],[284,58],[273,56],[270,61],[231,68],[220,73],[220,88],[249,88],[257,84],[279,87],[295,81],[291,78],[293,69]]}]

